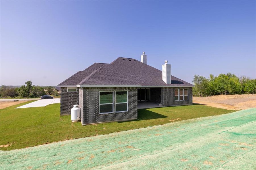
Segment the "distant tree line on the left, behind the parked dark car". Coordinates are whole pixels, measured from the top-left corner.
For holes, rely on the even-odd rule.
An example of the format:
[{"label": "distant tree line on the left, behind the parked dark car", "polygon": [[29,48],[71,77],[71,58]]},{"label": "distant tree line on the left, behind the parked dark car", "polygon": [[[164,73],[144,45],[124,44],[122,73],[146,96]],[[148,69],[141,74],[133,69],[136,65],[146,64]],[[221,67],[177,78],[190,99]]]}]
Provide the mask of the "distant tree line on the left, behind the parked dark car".
[{"label": "distant tree line on the left, behind the parked dark car", "polygon": [[25,82],[26,85],[22,85],[19,88],[11,88],[9,86],[1,86],[0,88],[0,97],[6,98],[6,97],[28,97],[28,98],[35,98],[40,97],[43,95],[54,95],[58,96],[58,91],[55,90],[52,86],[47,86],[44,90],[44,88],[40,86],[35,86],[32,84],[32,82],[29,80]]}]

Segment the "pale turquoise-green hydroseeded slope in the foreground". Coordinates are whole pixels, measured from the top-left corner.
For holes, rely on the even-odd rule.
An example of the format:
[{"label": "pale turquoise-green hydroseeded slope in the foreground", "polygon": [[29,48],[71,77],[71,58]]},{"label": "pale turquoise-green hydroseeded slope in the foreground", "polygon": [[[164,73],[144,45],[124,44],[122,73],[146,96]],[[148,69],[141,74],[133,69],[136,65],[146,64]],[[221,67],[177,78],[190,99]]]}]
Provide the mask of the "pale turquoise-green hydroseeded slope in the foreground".
[{"label": "pale turquoise-green hydroseeded slope in the foreground", "polygon": [[255,121],[256,108],[0,151],[0,165],[3,170],[255,169]]}]

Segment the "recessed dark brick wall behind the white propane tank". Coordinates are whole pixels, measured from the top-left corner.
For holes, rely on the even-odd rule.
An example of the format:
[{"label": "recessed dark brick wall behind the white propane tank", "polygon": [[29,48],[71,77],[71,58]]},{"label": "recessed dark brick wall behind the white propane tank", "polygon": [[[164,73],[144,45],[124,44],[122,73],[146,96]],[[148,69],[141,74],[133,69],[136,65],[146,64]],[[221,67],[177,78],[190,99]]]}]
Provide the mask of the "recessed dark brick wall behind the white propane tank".
[{"label": "recessed dark brick wall behind the white propane tank", "polygon": [[71,114],[73,105],[79,104],[79,88],[76,92],[67,92],[66,87],[61,87],[61,115]]}]

